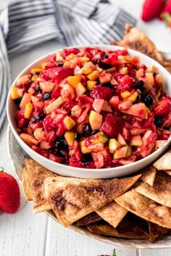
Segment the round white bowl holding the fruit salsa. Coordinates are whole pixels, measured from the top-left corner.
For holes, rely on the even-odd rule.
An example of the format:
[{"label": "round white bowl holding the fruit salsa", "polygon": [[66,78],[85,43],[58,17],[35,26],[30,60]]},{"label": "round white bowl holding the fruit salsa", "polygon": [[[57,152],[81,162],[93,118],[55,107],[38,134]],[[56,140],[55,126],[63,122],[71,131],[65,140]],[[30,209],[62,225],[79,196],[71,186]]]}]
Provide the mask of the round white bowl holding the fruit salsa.
[{"label": "round white bowl holding the fruit salsa", "polygon": [[[122,47],[119,46],[108,46],[108,45],[92,45],[91,47],[98,46],[101,49],[122,49]],[[77,47],[78,49],[81,49],[85,46],[72,46]],[[69,48],[72,48],[69,47]],[[59,50],[58,50],[59,51]],[[61,49],[62,51],[62,49]],[[56,51],[53,51],[49,54],[54,54]],[[171,75],[167,72],[167,70],[162,67],[158,62],[154,61],[154,59],[151,59],[150,57],[147,57],[144,54],[141,54],[138,51],[128,50],[130,56],[138,56],[141,60],[141,63],[145,64],[146,66],[154,65],[158,68],[159,73],[161,73],[164,77],[164,91],[167,92],[167,94],[171,95]],[[49,54],[46,54],[45,56],[36,59],[35,62],[32,62],[28,67],[25,67],[24,70],[17,76],[17,78],[20,78],[20,76],[25,75],[29,72],[30,67],[40,67],[41,62],[46,62],[47,56]],[[15,86],[17,78],[12,83],[12,86]],[[22,149],[25,150],[25,152],[28,153],[30,157],[33,158],[33,160],[36,160],[40,165],[43,165],[43,167],[52,170],[54,173],[58,173],[62,176],[72,176],[72,177],[79,177],[79,178],[114,178],[114,177],[121,177],[121,176],[128,176],[131,173],[135,173],[138,170],[141,170],[142,168],[145,168],[146,165],[149,165],[151,162],[154,162],[161,154],[164,152],[165,149],[170,145],[171,142],[171,136],[170,139],[167,140],[167,142],[157,151],[150,154],[148,157],[143,158],[142,160],[138,160],[137,162],[130,163],[128,165],[123,165],[117,168],[101,168],[101,169],[86,169],[86,168],[75,168],[68,165],[62,165],[57,162],[53,162],[46,157],[41,156],[41,154],[38,154],[33,149],[31,149],[27,144],[25,144],[22,139],[20,139],[20,136],[17,133],[17,124],[15,122],[15,113],[17,111],[17,107],[14,103],[14,101],[11,99],[10,94],[8,94],[7,97],[7,117],[9,120],[10,128],[12,129],[12,133],[14,134],[14,137],[17,139],[20,146],[22,146]]]}]

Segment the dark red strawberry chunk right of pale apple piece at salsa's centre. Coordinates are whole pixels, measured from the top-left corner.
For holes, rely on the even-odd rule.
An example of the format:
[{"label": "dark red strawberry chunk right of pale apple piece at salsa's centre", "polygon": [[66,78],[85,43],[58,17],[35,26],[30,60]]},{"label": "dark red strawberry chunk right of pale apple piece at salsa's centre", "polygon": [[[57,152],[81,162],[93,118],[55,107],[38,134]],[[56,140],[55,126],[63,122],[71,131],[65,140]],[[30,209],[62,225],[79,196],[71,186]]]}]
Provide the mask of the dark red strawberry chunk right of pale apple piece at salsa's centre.
[{"label": "dark red strawberry chunk right of pale apple piece at salsa's centre", "polygon": [[107,136],[114,138],[122,131],[125,124],[125,120],[117,115],[107,114],[104,117],[103,123],[101,125],[101,131],[103,131]]}]

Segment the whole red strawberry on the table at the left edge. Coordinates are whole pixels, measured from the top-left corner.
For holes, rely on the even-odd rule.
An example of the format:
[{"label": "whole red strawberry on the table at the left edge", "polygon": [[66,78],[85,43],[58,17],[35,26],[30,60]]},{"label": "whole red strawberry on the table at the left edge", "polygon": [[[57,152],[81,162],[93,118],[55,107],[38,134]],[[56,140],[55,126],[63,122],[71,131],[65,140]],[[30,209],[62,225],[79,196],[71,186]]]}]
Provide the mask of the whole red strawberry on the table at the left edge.
[{"label": "whole red strawberry on the table at the left edge", "polygon": [[19,206],[20,189],[17,181],[8,173],[0,173],[0,210],[14,213]]}]

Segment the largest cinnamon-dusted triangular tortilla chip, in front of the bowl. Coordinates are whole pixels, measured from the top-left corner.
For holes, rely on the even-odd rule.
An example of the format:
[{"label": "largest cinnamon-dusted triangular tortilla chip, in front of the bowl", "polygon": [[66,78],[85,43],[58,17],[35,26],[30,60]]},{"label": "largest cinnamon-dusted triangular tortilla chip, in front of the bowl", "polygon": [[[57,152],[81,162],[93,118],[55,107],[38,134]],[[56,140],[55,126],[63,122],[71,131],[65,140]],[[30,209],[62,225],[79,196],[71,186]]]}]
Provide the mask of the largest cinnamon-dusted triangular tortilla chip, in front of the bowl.
[{"label": "largest cinnamon-dusted triangular tortilla chip, in front of the bowl", "polygon": [[46,178],[46,198],[58,220],[69,226],[127,191],[141,175],[112,180]]}]

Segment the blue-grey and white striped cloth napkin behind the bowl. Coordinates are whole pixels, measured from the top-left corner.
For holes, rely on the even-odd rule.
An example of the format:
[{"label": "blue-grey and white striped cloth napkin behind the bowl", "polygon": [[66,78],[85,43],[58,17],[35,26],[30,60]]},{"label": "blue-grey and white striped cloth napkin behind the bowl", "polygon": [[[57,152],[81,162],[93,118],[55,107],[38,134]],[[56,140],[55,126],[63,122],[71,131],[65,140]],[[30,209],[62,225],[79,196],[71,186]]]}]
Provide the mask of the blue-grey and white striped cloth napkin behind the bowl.
[{"label": "blue-grey and white striped cloth napkin behind the bowl", "polygon": [[107,0],[25,0],[0,4],[0,131],[10,86],[9,58],[56,38],[64,46],[109,44],[135,18]]}]

